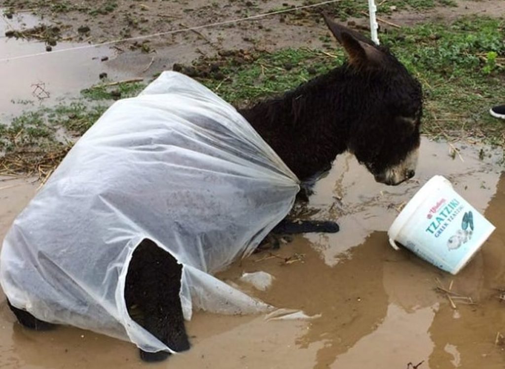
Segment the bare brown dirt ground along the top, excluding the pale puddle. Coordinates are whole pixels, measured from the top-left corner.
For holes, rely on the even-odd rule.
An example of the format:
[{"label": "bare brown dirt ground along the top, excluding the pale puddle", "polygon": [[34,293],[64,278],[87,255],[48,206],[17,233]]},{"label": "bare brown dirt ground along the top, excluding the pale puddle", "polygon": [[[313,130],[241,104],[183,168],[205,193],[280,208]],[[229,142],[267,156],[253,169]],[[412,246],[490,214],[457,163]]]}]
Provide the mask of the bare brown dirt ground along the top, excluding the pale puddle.
[{"label": "bare brown dirt ground along the top, excluding the pale puddle", "polygon": [[[387,2],[382,2],[387,6]],[[0,2],[0,7],[2,2]],[[207,2],[202,0],[184,1],[150,1],[140,3],[133,0],[116,2],[117,8],[108,14],[90,16],[79,10],[66,12],[51,11],[51,7],[31,8],[30,2],[14,11],[31,10],[43,19],[51,20],[62,28],[62,37],[67,41],[100,43],[126,37],[145,36],[159,32],[180,30],[188,27],[207,25],[223,20],[233,20],[250,15],[263,14],[278,10],[283,5],[301,6],[304,1],[285,0],[271,1],[229,1]],[[47,2],[51,4],[51,2]],[[82,9],[80,0],[68,0],[68,9]],[[107,1],[100,0],[93,3],[94,9],[104,8]],[[380,4],[380,2],[378,3]],[[505,12],[505,2],[501,0],[457,0],[458,7],[437,7],[432,10],[397,11],[391,15],[382,16],[387,22],[396,25],[412,25],[430,19],[451,19],[461,15],[486,14],[500,17]],[[89,9],[89,5],[86,5]],[[379,6],[380,8],[380,6]],[[212,55],[219,49],[257,48],[272,50],[280,47],[320,46],[319,36],[329,34],[321,17],[320,10],[330,8],[311,8],[296,15],[285,13],[272,15],[259,20],[242,21],[236,24],[208,27],[198,32],[181,32],[166,36],[147,38],[145,40],[130,41],[126,45],[118,44],[121,49],[128,47],[139,49],[140,45],[148,41],[151,52],[155,53],[153,70],[160,70],[166,63],[164,55],[167,50],[175,48],[180,60],[186,63],[197,56]],[[349,18],[360,27],[368,26],[368,19]],[[382,29],[391,25],[379,22]],[[79,27],[89,27],[88,32],[79,33]],[[168,66],[170,67],[170,65]]]}]

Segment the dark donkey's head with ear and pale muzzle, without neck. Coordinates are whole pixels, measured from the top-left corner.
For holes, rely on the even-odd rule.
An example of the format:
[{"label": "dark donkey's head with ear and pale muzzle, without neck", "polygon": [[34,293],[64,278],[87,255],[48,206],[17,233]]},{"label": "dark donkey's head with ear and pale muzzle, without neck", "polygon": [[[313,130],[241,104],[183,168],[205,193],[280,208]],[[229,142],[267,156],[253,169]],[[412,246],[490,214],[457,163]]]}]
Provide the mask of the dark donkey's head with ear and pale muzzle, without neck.
[{"label": "dark donkey's head with ear and pale muzzle, without neck", "polygon": [[420,142],[420,83],[386,48],[324,17],[349,59],[343,107],[348,150],[377,182],[397,185],[412,178]]}]

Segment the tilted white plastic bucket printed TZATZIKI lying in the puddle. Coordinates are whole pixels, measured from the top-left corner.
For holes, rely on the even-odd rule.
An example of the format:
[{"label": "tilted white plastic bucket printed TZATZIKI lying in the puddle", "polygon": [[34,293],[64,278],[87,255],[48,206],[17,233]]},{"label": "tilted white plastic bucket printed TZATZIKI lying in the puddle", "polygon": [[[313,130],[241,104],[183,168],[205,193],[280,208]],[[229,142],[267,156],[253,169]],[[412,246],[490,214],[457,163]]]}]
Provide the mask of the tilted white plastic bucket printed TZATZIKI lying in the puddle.
[{"label": "tilted white plastic bucket printed TZATZIKI lying in the puddle", "polygon": [[434,266],[457,274],[495,227],[442,176],[432,177],[403,208],[387,232]]}]

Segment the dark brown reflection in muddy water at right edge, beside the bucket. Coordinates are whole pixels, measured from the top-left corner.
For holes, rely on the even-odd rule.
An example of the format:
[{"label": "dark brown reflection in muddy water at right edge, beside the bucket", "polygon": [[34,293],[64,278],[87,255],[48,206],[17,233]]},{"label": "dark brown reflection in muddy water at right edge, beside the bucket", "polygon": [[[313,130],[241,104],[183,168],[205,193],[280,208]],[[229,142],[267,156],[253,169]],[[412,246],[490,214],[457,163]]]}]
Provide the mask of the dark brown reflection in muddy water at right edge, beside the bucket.
[{"label": "dark brown reflection in muddy water at right edge, beside the bucket", "polygon": [[453,289],[476,298],[478,304],[458,306],[459,319],[454,319],[450,305],[441,306],[430,329],[437,343],[430,357],[434,367],[452,367],[449,363],[454,358],[446,344],[458,348],[462,367],[498,368],[505,362],[502,347],[495,344],[505,322],[505,306],[496,291],[505,286],[505,175],[485,216],[496,225],[496,231],[467,268],[455,278],[444,276],[442,280],[446,284],[453,280]]}]

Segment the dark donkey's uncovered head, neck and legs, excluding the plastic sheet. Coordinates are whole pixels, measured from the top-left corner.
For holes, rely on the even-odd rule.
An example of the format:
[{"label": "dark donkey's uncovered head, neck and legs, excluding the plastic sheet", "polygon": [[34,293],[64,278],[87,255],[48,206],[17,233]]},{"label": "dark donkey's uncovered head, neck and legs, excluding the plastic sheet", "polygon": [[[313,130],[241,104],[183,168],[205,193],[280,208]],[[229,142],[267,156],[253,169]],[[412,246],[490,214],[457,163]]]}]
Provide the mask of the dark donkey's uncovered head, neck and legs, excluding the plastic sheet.
[{"label": "dark donkey's uncovered head, neck and legs, excluding the plastic sheet", "polygon": [[[376,181],[397,185],[415,174],[421,85],[385,47],[326,15],[324,19],[348,61],[281,97],[239,112],[302,181],[328,170],[336,155],[348,150]],[[278,229],[285,231],[284,226]],[[288,228],[291,233],[338,230],[324,222]],[[179,299],[181,271],[173,256],[145,239],[133,252],[125,286],[132,319],[177,352],[189,349]],[[9,306],[26,327],[53,326]],[[140,350],[146,361],[168,355]]]}]

